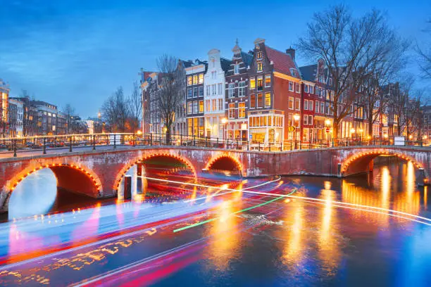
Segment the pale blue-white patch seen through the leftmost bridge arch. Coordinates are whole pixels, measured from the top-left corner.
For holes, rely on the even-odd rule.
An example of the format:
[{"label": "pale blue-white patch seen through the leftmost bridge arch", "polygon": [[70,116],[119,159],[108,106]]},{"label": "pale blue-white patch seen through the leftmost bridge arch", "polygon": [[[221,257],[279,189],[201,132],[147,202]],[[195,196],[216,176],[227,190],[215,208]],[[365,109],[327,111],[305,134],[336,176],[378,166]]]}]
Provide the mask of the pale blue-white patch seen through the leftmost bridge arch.
[{"label": "pale blue-white patch seen through the leftmost bridge arch", "polygon": [[9,200],[9,219],[45,214],[56,201],[57,180],[45,168],[30,174],[13,190]]}]

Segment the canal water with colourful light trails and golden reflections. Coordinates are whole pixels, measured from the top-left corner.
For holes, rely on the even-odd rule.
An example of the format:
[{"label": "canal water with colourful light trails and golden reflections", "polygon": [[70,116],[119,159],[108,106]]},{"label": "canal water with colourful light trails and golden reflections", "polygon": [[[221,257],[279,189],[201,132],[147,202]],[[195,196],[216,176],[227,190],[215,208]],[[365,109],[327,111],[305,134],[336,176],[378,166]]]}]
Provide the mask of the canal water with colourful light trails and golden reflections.
[{"label": "canal water with colourful light trails and golden reflections", "polygon": [[[349,179],[162,171],[132,201],[2,223],[0,285],[431,283],[431,205],[412,162],[380,158]],[[399,274],[399,253],[416,268]]]}]

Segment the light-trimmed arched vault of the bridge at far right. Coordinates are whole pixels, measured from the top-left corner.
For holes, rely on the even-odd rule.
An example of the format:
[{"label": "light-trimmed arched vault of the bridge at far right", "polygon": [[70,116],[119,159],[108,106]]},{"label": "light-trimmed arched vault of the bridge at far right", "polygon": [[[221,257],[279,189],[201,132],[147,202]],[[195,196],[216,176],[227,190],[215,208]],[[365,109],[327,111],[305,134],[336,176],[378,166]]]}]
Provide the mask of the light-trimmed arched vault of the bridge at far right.
[{"label": "light-trimmed arched vault of the bridge at far right", "polygon": [[416,162],[413,158],[409,158],[402,153],[390,153],[389,151],[367,151],[352,155],[342,162],[341,173],[344,177],[349,177],[355,174],[372,172],[375,160],[382,160],[382,158],[398,158],[406,162],[412,162],[413,167],[422,169],[422,165]]}]

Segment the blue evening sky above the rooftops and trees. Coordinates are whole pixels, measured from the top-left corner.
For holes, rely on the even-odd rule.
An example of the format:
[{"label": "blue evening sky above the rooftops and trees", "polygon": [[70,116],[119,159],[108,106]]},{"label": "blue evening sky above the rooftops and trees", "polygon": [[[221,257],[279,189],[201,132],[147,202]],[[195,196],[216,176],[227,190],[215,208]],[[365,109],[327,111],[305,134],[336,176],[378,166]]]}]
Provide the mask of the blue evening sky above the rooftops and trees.
[{"label": "blue evening sky above the rooftops and trees", "polygon": [[[130,94],[140,68],[156,69],[162,53],[206,58],[218,48],[232,56],[235,39],[248,51],[257,37],[284,50],[316,11],[339,1],[0,0],[0,78],[59,108],[70,103],[95,116],[118,86]],[[431,1],[344,1],[360,15],[387,13],[399,33],[430,43],[421,29]],[[299,65],[308,60],[298,55]],[[412,55],[409,71],[418,72]],[[419,81],[418,81],[419,82]]]}]

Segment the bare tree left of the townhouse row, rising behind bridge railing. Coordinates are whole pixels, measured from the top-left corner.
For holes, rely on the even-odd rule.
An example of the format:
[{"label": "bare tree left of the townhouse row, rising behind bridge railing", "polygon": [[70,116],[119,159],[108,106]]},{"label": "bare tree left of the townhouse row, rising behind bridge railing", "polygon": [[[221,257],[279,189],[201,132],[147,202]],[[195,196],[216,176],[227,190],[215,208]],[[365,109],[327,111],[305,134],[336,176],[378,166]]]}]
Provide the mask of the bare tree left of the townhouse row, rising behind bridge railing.
[{"label": "bare tree left of the townhouse row, rising behind bridge railing", "polygon": [[157,60],[161,73],[158,89],[161,119],[165,125],[166,144],[170,142],[171,127],[175,122],[175,112],[180,109],[185,92],[185,72],[173,56],[163,55]]}]

